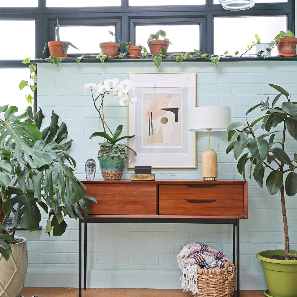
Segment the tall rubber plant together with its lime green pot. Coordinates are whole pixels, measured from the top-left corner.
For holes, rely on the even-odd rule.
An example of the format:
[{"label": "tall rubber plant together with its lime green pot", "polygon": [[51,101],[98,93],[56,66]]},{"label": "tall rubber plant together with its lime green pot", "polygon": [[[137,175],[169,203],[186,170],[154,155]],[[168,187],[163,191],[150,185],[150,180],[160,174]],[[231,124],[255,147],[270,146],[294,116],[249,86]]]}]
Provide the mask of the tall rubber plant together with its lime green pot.
[{"label": "tall rubber plant together with its lime green pot", "polygon": [[[288,132],[297,140],[297,103],[291,102],[289,93],[282,87],[270,84],[279,94],[269,104],[269,97],[264,102],[250,108],[246,114],[256,108],[266,111],[265,115],[251,124],[243,122],[231,123],[228,127],[230,142],[226,153],[233,150],[236,159],[244,153],[238,161],[237,169],[245,179],[246,166],[249,167],[249,177],[253,177],[258,185],[263,187],[265,171],[269,171],[266,187],[270,195],[280,192],[282,217],[285,234],[284,250],[269,250],[259,252],[257,258],[261,260],[265,281],[268,287],[266,296],[295,297],[297,292],[297,251],[289,250],[289,231],[286,215],[285,191],[287,196],[297,193],[297,153],[291,158],[285,152],[285,134]],[[274,107],[278,99],[284,95],[286,101],[281,107]],[[281,125],[281,131],[270,131]],[[257,129],[262,127],[267,133],[256,136]],[[274,140],[277,132],[281,132],[282,140]],[[267,138],[268,141],[265,139]],[[297,145],[295,146],[297,147]],[[248,152],[243,152],[244,149]],[[248,164],[249,162],[249,164]],[[295,163],[295,164],[294,164]],[[286,167],[285,167],[286,166]]]}]

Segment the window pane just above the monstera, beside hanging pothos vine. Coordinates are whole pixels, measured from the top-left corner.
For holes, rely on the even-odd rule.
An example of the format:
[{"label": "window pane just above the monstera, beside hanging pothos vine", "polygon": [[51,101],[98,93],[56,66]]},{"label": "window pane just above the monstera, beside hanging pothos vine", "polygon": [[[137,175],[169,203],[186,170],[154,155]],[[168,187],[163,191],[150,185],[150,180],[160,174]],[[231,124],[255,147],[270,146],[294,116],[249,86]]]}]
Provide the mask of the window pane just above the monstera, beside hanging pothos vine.
[{"label": "window pane just above the monstera, beside hanging pothos vine", "polygon": [[[30,104],[25,100],[25,95],[32,95],[29,87],[19,90],[19,83],[28,80],[30,70],[28,68],[0,68],[0,105],[15,105],[22,114]],[[33,83],[34,84],[34,83]],[[9,87],[8,87],[9,86]],[[0,118],[4,118],[4,113],[0,113]]]}]

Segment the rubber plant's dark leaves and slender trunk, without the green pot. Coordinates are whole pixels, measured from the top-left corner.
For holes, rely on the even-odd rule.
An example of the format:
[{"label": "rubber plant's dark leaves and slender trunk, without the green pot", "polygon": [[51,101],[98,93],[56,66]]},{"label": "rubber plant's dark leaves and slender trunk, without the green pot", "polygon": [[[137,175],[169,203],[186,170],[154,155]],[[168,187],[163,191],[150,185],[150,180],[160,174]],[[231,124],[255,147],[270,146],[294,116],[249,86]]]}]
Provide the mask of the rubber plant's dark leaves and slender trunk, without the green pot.
[{"label": "rubber plant's dark leaves and slender trunk, without the green pot", "polygon": [[[237,169],[245,179],[246,167],[249,167],[249,177],[253,177],[258,185],[263,187],[265,172],[268,173],[266,187],[270,195],[275,195],[280,191],[282,204],[282,217],[285,233],[285,260],[289,258],[289,231],[286,215],[285,191],[287,196],[291,197],[297,193],[297,153],[289,157],[285,152],[286,131],[297,140],[297,102],[291,102],[291,96],[282,87],[269,84],[276,89],[279,94],[273,99],[271,105],[269,97],[264,102],[250,108],[246,114],[252,110],[260,108],[265,111],[265,115],[256,119],[252,123],[235,122],[228,127],[228,140],[230,142],[226,153],[233,150],[236,160],[239,158]],[[286,101],[281,107],[275,107],[279,98],[284,95]],[[277,132],[271,131],[272,128],[281,126],[281,141],[274,140]],[[265,129],[265,133],[256,131],[259,128]],[[297,144],[296,144],[297,147]],[[248,149],[245,153],[244,149]]]}]

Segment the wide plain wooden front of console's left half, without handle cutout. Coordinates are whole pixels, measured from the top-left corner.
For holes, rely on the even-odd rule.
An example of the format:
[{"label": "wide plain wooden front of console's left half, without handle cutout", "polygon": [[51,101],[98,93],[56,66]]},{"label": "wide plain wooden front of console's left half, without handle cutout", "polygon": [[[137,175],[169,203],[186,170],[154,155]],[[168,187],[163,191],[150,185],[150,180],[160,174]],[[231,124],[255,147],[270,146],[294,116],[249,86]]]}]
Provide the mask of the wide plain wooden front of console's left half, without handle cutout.
[{"label": "wide plain wooden front of console's left half, without handle cutout", "polygon": [[87,193],[97,198],[89,214],[156,215],[157,185],[86,184]]}]

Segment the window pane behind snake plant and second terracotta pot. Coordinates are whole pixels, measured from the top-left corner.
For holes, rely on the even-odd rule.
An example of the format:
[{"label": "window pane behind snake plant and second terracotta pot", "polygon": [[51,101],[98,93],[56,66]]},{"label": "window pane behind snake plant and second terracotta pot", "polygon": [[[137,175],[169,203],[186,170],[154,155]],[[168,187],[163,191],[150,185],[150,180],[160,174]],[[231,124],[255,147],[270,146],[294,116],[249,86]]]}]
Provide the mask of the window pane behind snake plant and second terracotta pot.
[{"label": "window pane behind snake plant and second terracotta pot", "polygon": [[99,54],[100,42],[114,41],[114,26],[60,26],[60,40],[70,41],[78,49],[69,46],[68,54]]}]

